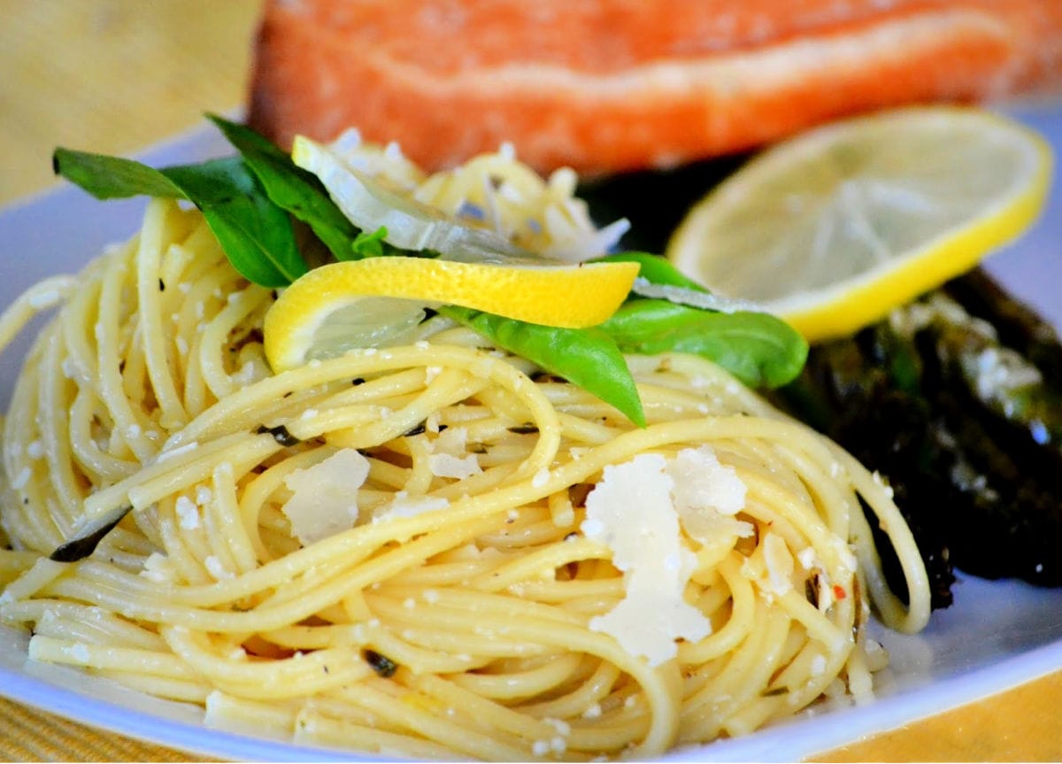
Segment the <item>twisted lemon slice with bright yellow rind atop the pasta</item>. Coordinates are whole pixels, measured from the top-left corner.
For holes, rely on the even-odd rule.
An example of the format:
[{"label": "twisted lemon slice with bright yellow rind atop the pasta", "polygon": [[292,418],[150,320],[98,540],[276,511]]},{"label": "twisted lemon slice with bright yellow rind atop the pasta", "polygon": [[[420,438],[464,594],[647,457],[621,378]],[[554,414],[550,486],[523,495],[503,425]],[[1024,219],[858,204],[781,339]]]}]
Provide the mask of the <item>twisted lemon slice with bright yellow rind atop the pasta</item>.
[{"label": "twisted lemon slice with bright yellow rind atop the pasta", "polygon": [[535,324],[581,328],[620,306],[636,262],[526,267],[423,257],[332,262],[299,276],[266,315],[273,371],[354,347],[408,340],[424,306],[451,304]]}]

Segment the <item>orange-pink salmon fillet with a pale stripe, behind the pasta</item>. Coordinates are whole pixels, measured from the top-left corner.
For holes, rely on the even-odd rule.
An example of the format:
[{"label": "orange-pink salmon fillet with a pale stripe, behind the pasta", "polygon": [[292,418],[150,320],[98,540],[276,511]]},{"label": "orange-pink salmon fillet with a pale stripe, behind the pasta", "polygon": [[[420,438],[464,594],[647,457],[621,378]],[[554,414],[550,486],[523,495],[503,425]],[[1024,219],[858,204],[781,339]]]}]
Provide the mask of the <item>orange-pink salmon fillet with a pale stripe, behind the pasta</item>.
[{"label": "orange-pink salmon fillet with a pale stripe, behind the pasta", "polygon": [[249,121],[426,169],[663,168],[1062,80],[1062,0],[268,0]]}]

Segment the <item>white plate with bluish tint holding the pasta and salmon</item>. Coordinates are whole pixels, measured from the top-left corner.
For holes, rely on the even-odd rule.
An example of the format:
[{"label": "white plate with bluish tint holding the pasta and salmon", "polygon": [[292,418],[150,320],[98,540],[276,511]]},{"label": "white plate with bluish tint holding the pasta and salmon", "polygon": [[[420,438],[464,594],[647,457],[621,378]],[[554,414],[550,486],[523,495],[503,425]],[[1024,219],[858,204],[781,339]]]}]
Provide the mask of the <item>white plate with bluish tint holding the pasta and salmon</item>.
[{"label": "white plate with bluish tint holding the pasta and salmon", "polygon": [[[1016,114],[1047,135],[1062,156],[1062,104],[1023,107]],[[223,140],[204,129],[143,158],[159,166],[227,153]],[[65,188],[0,213],[0,305],[34,281],[76,271],[104,244],[127,238],[142,208],[141,201],[101,203]],[[1062,326],[1062,189],[1055,189],[1039,226],[988,265]],[[28,342],[23,336],[0,362],[4,408]],[[670,760],[798,760],[1062,668],[1062,589],[960,574],[955,605],[935,613],[924,633],[880,636],[892,661],[873,702],[820,710],[747,737],[675,751]],[[0,694],[19,702],[209,758],[350,760],[325,749],[206,729],[194,707],[149,698],[71,668],[28,663],[27,641],[24,633],[0,627]]]}]

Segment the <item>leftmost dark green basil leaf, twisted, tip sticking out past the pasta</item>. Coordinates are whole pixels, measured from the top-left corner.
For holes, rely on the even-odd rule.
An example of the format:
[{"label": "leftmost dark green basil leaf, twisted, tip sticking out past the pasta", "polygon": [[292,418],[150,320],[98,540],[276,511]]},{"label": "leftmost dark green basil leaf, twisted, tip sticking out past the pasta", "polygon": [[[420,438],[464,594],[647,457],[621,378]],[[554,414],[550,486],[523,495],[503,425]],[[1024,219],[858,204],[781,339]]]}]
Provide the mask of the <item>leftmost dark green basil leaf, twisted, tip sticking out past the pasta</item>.
[{"label": "leftmost dark green basil leaf, twisted, tip sticking out past the pasta", "polygon": [[184,199],[203,211],[233,267],[255,284],[281,287],[307,271],[288,214],[273,204],[240,157],[155,170],[133,159],[56,149],[56,173],[97,199]]}]

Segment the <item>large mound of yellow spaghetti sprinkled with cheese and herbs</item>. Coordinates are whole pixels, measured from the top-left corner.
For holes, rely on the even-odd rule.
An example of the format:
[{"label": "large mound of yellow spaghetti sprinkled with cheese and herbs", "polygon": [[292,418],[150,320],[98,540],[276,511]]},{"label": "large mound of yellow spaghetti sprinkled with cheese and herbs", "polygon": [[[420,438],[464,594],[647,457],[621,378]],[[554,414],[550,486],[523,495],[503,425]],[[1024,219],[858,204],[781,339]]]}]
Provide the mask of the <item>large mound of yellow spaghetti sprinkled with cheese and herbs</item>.
[{"label": "large mound of yellow spaghetti sprinkled with cheese and herbs", "polygon": [[[870,609],[904,631],[928,617],[887,488],[707,361],[629,359],[645,428],[438,318],[413,344],[273,375],[274,296],[236,274],[198,211],[153,201],[132,241],[0,320],[6,340],[65,299],[4,423],[0,618],[32,626],[31,658],[299,743],[656,757],[866,698],[883,658]],[[705,627],[655,658],[602,624],[623,601],[666,621],[666,597],[653,612],[634,596],[673,561],[620,570],[590,517],[607,476],[643,457],[713,464],[742,492],[660,542],[689,562],[670,605]],[[92,556],[47,559],[123,506]]]}]

